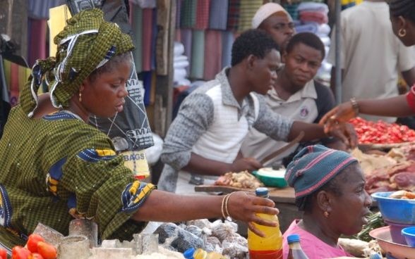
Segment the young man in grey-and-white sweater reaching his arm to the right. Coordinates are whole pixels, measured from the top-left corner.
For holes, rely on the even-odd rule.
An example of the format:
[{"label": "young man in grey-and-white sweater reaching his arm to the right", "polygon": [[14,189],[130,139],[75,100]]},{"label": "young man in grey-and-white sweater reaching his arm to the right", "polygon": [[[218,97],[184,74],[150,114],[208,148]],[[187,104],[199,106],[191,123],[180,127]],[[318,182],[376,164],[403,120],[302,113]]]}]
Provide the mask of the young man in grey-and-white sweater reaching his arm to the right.
[{"label": "young man in grey-and-white sweater reaching his arm to the right", "polygon": [[[243,32],[231,51],[231,68],[198,87],[181,103],[179,113],[164,139],[164,169],[159,189],[179,194],[194,193],[196,184],[212,184],[225,172],[255,170],[254,158],[238,156],[251,128],[272,139],[289,141],[306,132],[304,139],[327,137],[323,126],[293,122],[272,112],[263,96],[277,79],[279,52],[274,40],[260,30]],[[330,132],[354,146],[350,125]]]}]

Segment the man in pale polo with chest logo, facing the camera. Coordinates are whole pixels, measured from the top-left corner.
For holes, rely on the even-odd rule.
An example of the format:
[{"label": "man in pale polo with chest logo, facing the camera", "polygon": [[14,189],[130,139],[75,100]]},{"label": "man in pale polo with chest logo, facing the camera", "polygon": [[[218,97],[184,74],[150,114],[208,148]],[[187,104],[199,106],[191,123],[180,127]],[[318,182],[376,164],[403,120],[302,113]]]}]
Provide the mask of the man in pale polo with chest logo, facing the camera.
[{"label": "man in pale polo with chest logo, facing the camera", "polygon": [[[285,65],[278,71],[274,86],[265,95],[267,106],[273,112],[291,120],[318,123],[325,113],[335,107],[335,98],[330,89],[313,80],[324,56],[324,44],[315,34],[309,32],[295,34],[282,56]],[[325,137],[316,139],[313,143],[296,144],[276,158],[267,161],[264,166],[287,165],[296,150],[317,143],[332,149],[346,148],[339,139]],[[274,140],[252,129],[243,141],[241,153],[244,157],[263,160],[286,144],[286,141]]]}]

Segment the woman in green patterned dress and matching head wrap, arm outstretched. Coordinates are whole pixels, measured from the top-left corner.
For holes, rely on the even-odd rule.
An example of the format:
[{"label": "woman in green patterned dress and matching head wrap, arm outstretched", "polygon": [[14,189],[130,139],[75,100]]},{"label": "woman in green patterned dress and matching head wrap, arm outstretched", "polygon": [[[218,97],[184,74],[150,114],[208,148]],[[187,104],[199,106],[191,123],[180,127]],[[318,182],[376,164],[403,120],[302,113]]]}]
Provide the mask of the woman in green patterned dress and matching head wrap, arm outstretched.
[{"label": "woman in green patterned dress and matching head wrap, arm outstretched", "polygon": [[[0,141],[0,247],[24,244],[38,222],[66,235],[73,218],[97,222],[100,239],[120,240],[150,220],[229,214],[255,232],[251,222],[277,224],[255,215],[278,213],[266,198],[243,191],[227,200],[179,196],[136,180],[112,141],[86,123],[90,114],[112,117],[123,110],[131,38],[93,9],[68,20],[54,42],[56,58],[34,65]],[[52,109],[38,106],[41,84],[49,87]]]}]

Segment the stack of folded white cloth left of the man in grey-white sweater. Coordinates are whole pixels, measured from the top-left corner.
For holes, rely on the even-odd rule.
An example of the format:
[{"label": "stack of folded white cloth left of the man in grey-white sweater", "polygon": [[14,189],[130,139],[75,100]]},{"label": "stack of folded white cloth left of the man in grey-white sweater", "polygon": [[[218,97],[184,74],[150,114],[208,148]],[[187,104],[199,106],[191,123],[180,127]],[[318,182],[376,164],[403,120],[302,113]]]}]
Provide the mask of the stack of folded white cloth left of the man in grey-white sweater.
[{"label": "stack of folded white cloth left of the man in grey-white sweater", "polygon": [[184,45],[180,42],[174,42],[174,54],[173,54],[173,68],[174,68],[174,85],[190,85],[191,82],[186,78],[189,62],[187,56],[184,56]]}]

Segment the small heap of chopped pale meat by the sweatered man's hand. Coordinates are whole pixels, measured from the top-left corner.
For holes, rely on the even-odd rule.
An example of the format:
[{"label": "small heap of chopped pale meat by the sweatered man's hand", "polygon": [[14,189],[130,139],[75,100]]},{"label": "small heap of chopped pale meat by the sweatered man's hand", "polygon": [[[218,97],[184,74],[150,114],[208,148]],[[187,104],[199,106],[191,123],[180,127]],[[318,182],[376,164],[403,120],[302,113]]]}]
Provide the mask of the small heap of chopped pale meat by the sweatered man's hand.
[{"label": "small heap of chopped pale meat by the sweatered man's hand", "polygon": [[264,186],[262,182],[256,179],[255,176],[251,175],[248,171],[227,172],[216,180],[215,185],[244,189],[256,189]]}]

